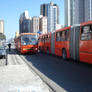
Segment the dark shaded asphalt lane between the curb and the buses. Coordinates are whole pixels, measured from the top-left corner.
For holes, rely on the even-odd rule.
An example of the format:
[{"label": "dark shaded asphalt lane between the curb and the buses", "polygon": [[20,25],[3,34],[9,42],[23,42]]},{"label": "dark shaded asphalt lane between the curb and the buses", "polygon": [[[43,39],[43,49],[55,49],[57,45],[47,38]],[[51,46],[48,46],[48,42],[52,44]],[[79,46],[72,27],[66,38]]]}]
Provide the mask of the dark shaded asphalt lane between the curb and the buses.
[{"label": "dark shaded asphalt lane between the curb and the buses", "polygon": [[25,57],[40,72],[68,92],[91,92],[92,67],[90,65],[64,61],[62,58],[41,53]]}]

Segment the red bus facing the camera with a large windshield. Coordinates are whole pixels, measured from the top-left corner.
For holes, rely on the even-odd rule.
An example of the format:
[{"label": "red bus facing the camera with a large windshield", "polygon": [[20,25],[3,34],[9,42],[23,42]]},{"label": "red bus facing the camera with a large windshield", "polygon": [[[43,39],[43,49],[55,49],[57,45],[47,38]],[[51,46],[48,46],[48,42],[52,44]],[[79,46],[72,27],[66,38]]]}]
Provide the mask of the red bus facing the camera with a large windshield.
[{"label": "red bus facing the camera with a large windshield", "polygon": [[36,33],[21,33],[15,38],[15,47],[22,53],[37,53],[38,52],[38,37]]}]

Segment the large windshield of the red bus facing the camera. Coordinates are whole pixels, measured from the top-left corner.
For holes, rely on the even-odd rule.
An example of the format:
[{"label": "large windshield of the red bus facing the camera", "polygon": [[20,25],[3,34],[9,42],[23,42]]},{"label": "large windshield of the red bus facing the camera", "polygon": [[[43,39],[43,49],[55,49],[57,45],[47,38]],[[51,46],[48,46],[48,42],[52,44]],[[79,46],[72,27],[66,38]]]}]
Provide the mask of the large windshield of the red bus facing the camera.
[{"label": "large windshield of the red bus facing the camera", "polygon": [[23,35],[21,36],[22,45],[36,45],[38,42],[37,35]]}]

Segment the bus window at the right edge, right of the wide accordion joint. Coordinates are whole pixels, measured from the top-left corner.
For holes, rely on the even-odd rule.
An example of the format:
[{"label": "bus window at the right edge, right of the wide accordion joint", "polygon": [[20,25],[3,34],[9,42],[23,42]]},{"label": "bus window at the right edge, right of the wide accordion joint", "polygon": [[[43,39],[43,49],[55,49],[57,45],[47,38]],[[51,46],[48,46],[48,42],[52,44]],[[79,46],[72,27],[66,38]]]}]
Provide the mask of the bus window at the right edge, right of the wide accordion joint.
[{"label": "bus window at the right edge, right of the wide accordion joint", "polygon": [[84,26],[81,30],[81,40],[92,39],[92,25]]}]

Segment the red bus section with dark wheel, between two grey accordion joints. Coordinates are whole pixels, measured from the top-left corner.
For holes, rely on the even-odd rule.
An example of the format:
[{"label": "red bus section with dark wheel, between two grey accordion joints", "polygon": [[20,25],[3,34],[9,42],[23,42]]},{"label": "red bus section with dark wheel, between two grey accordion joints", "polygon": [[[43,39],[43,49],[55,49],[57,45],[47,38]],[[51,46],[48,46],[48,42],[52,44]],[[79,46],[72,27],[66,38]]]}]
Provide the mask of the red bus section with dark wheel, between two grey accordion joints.
[{"label": "red bus section with dark wheel, between two grey accordion joints", "polygon": [[[55,55],[69,58],[69,34],[71,27],[65,27],[55,32]],[[67,55],[66,55],[67,53]]]}]

